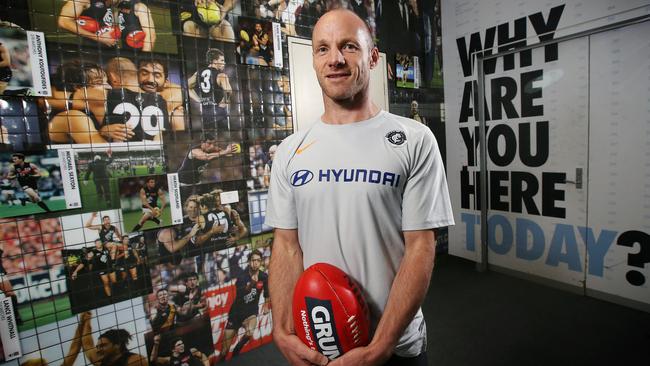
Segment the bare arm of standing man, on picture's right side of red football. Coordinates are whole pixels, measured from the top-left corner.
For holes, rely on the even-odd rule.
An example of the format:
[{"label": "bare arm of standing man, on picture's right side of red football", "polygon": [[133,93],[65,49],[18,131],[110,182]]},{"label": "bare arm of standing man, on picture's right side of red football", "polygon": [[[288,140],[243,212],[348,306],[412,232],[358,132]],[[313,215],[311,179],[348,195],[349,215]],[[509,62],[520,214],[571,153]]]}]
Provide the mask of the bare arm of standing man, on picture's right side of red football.
[{"label": "bare arm of standing man, on picture's right side of red football", "polygon": [[380,365],[392,356],[429,288],[436,254],[434,231],[405,231],[404,247],[404,257],[372,341],[367,347],[355,348],[334,360],[331,366]]}]

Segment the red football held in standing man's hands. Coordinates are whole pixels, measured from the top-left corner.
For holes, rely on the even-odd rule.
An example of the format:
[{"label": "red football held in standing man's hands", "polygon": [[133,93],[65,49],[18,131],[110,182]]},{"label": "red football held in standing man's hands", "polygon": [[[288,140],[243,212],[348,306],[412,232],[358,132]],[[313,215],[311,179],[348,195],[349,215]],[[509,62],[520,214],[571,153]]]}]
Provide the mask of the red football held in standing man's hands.
[{"label": "red football held in standing man's hands", "polygon": [[369,341],[370,318],[361,289],[331,264],[312,265],[296,282],[293,322],[298,338],[330,360]]}]

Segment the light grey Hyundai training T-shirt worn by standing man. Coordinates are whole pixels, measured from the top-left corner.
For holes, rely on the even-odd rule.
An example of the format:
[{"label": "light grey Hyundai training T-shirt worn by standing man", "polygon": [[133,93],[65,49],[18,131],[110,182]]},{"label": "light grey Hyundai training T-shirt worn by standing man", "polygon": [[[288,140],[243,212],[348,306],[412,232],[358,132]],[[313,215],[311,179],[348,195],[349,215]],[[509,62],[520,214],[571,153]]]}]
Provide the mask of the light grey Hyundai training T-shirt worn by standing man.
[{"label": "light grey Hyundai training T-shirt worn by standing man", "polygon": [[[402,232],[454,224],[433,133],[381,111],[289,136],[273,162],[266,224],[298,229],[304,268],[330,263],[360,283],[374,333],[404,256]],[[419,310],[395,353],[413,357],[425,347]]]}]

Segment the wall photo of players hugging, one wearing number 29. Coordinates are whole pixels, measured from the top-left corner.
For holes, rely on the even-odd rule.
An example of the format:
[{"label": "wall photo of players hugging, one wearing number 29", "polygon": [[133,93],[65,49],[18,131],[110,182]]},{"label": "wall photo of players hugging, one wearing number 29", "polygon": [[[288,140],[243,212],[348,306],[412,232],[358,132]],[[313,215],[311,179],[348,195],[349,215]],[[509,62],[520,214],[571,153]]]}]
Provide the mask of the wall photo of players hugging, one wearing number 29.
[{"label": "wall photo of players hugging, one wearing number 29", "polygon": [[126,57],[104,64],[67,60],[52,76],[52,97],[41,108],[55,144],[160,141],[165,130],[184,130],[180,85],[167,63]]}]

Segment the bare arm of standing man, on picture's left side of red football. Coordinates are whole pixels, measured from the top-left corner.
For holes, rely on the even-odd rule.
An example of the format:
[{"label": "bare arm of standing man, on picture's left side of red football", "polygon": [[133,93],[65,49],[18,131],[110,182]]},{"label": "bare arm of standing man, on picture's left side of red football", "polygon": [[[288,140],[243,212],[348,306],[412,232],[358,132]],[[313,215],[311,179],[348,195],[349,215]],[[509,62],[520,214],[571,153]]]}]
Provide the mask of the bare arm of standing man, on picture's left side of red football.
[{"label": "bare arm of standing man, on picture's left side of red football", "polygon": [[291,316],[291,296],[304,271],[298,231],[275,229],[269,265],[269,290],[273,304],[273,340],[292,365],[326,365],[327,357],[310,349],[296,336]]}]

